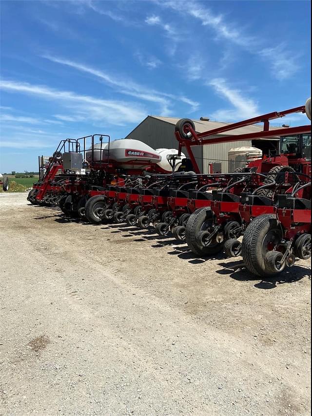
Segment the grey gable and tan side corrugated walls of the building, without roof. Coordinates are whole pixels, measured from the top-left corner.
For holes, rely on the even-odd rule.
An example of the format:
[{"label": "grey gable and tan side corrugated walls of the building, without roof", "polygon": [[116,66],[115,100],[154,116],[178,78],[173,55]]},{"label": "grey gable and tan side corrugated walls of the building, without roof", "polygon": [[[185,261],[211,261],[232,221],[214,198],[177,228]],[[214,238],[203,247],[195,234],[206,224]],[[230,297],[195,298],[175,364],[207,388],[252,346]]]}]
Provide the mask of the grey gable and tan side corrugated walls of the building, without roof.
[{"label": "grey gable and tan side corrugated walls of the building, without roof", "polygon": [[[216,136],[212,136],[216,137]],[[148,116],[139,124],[126,139],[141,140],[153,149],[177,149],[178,142],[175,136],[175,126],[162,120]],[[208,173],[210,162],[221,162],[222,172],[228,172],[228,151],[241,146],[251,146],[250,140],[239,142],[220,143],[206,146],[193,146],[192,150],[201,172]],[[185,153],[186,150],[183,149]]]}]

